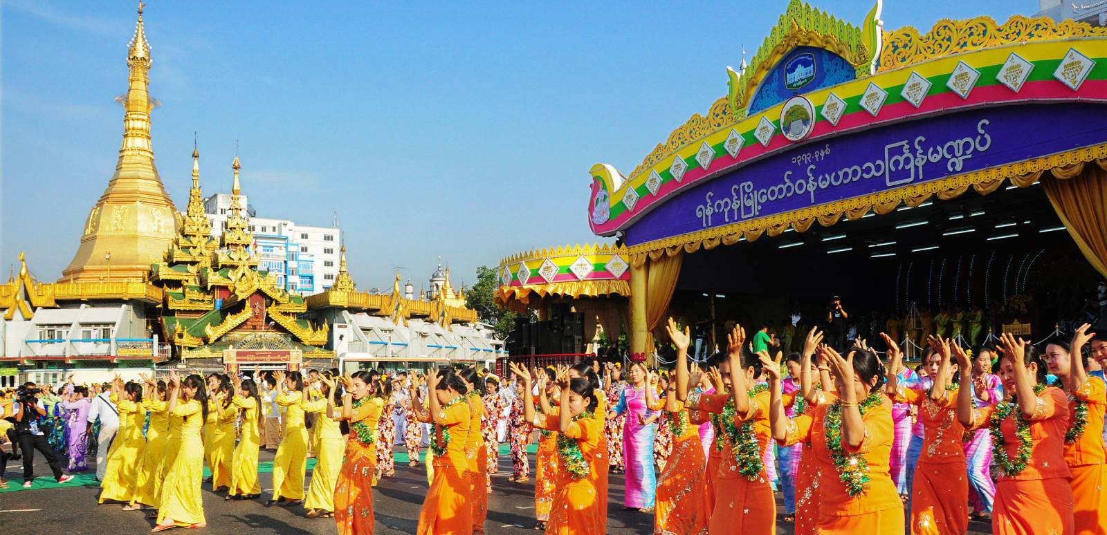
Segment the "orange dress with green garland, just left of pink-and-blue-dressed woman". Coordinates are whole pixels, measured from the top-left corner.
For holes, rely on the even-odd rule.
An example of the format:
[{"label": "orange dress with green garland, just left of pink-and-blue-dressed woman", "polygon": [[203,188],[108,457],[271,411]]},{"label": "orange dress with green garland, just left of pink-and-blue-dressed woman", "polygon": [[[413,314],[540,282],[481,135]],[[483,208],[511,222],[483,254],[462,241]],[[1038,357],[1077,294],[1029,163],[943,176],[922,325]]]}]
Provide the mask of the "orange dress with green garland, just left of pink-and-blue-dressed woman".
[{"label": "orange dress with green garland, just left of pink-and-blue-dressed woman", "polygon": [[[556,434],[557,493],[546,535],[607,533],[607,517],[600,514],[607,496],[599,494],[596,481],[597,472],[607,471],[608,465],[598,462],[603,427],[597,422],[593,415],[586,412],[573,417],[565,433]],[[558,419],[552,415],[536,415],[534,423],[540,429],[558,429]]]}]

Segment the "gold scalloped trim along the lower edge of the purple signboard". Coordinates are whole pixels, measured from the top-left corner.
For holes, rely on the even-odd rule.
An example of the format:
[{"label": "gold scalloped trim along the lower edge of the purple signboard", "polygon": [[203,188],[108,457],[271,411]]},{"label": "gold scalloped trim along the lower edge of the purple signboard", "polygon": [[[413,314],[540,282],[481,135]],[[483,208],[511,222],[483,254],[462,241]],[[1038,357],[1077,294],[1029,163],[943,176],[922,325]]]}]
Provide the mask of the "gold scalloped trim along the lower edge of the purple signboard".
[{"label": "gold scalloped trim along the lower edge of the purple signboard", "polygon": [[631,256],[631,265],[640,266],[645,262],[648,256],[656,260],[663,254],[672,256],[680,252],[693,253],[701,248],[714,249],[721,243],[733,245],[743,238],[746,241],[756,241],[764,233],[770,237],[778,235],[788,227],[792,227],[797,232],[806,232],[816,220],[824,227],[830,227],[837,223],[842,216],[852,221],[860,219],[870,210],[881,216],[890,213],[896,210],[896,207],[900,202],[915,207],[931,196],[949,200],[968,191],[970,186],[981,195],[989,195],[995,191],[1003,183],[1003,180],[1010,180],[1011,183],[1025,188],[1034,183],[1044,171],[1062,168],[1062,172],[1064,174],[1064,168],[1074,165],[1083,166],[1088,161],[1107,162],[1107,145],[1084,147],[1067,153],[1043,156],[853,199],[844,199],[801,210],[793,210],[732,223],[725,227],[704,229],[687,234],[632,245],[628,248],[628,251]]}]

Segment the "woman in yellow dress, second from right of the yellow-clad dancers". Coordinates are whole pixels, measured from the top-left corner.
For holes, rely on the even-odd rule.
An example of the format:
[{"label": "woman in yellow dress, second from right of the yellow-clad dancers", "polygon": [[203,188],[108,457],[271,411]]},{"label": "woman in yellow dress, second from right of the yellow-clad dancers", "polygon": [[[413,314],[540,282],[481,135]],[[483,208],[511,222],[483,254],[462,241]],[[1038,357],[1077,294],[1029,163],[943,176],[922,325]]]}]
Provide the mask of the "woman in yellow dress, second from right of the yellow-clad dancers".
[{"label": "woman in yellow dress, second from right of the yellow-clad dancers", "polygon": [[273,458],[273,497],[278,503],[303,503],[304,463],[308,460],[308,428],[303,423],[303,377],[299,371],[277,371],[277,405],[284,407],[284,437]]}]

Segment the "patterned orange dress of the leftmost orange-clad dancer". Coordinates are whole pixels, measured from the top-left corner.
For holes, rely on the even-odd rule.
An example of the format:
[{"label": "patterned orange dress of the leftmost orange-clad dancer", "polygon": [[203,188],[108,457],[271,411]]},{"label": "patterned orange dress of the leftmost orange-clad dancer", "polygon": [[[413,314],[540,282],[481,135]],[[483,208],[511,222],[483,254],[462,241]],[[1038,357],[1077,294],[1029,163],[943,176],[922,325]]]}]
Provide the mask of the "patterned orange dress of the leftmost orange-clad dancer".
[{"label": "patterned orange dress of the leftmost orange-clad dancer", "polygon": [[[373,534],[373,473],[376,471],[376,429],[384,400],[365,396],[353,400],[345,461],[334,485],[334,524],[340,535]],[[341,411],[340,408],[332,408]]]}]

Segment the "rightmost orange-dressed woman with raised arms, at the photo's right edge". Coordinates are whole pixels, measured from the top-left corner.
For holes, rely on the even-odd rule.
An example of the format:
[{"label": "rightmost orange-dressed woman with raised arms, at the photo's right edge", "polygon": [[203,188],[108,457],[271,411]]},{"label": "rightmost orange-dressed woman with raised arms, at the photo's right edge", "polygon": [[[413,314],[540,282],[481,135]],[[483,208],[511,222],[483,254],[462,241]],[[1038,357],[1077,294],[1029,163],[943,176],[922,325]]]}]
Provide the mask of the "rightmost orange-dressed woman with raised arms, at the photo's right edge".
[{"label": "rightmost orange-dressed woman with raised arms, at the photo's right edge", "polygon": [[1045,346],[1049,373],[1068,392],[1069,426],[1065,432],[1065,462],[1073,473],[1073,522],[1078,534],[1107,533],[1107,451],[1104,449],[1104,410],[1107,387],[1084,369],[1082,349],[1095,337],[1088,324],[1077,327],[1069,344],[1049,340]]}]

